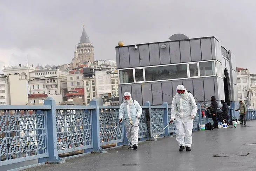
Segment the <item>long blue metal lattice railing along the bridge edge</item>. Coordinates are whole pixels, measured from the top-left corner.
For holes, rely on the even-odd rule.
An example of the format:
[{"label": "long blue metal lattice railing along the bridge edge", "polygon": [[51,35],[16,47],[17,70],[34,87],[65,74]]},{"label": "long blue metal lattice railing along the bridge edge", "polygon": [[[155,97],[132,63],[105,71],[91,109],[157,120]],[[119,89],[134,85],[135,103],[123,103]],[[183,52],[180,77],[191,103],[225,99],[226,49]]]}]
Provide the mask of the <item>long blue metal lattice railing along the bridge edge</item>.
[{"label": "long blue metal lattice railing along the bridge edge", "polygon": [[[139,119],[139,141],[159,135],[168,125],[170,112],[166,102],[161,106],[145,102]],[[255,114],[255,110],[248,110],[247,120],[256,119]],[[198,104],[193,129],[198,130],[198,125],[208,122],[213,123]],[[64,153],[101,153],[104,145],[126,145],[128,140],[123,122],[118,124],[119,106],[99,106],[95,99],[88,106],[55,106],[52,98],[47,98],[43,106],[2,105],[0,166],[33,159],[38,159],[38,163],[60,163],[63,160],[59,155]],[[159,137],[175,134],[175,129],[174,122]]]}]

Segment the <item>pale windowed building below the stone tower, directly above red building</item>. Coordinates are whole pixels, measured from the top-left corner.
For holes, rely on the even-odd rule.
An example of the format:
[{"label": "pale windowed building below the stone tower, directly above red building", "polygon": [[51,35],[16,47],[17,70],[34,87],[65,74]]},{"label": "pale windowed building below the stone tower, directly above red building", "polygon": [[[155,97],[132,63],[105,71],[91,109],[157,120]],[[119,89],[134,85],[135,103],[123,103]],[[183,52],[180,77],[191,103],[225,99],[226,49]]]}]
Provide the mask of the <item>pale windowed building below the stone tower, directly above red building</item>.
[{"label": "pale windowed building below the stone tower, directly above red building", "polygon": [[75,88],[83,88],[83,69],[77,71],[69,71],[67,75],[68,91]]}]

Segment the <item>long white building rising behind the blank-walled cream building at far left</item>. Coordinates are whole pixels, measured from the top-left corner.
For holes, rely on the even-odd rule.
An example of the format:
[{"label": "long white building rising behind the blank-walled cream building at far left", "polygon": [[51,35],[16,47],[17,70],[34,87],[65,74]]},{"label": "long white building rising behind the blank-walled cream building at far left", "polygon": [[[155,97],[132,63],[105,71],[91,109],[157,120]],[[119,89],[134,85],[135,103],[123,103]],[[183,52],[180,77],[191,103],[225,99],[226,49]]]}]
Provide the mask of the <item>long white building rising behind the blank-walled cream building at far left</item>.
[{"label": "long white building rising behind the blank-walled cream building at far left", "polygon": [[35,68],[33,67],[33,65],[30,66],[27,63],[26,66],[21,66],[21,64],[19,64],[19,66],[15,66],[15,67],[5,67],[4,66],[4,69],[2,71],[4,72],[4,75],[8,75],[8,74],[14,75],[16,73],[16,74],[20,74],[20,75],[26,75],[27,78],[29,79],[30,78],[29,73],[34,70],[35,70]]}]

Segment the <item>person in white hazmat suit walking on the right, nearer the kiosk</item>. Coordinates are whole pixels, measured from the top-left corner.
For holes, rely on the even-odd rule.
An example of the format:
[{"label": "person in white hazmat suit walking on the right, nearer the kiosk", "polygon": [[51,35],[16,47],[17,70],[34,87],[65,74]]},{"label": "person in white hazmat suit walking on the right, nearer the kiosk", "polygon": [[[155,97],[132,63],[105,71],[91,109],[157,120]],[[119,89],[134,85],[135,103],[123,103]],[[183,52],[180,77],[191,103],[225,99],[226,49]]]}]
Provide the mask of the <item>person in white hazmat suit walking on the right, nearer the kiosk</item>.
[{"label": "person in white hazmat suit walking on the right, nearer the kiosk", "polygon": [[177,94],[171,103],[170,122],[176,121],[176,140],[183,151],[191,151],[193,121],[197,112],[194,96],[183,85],[177,86]]}]

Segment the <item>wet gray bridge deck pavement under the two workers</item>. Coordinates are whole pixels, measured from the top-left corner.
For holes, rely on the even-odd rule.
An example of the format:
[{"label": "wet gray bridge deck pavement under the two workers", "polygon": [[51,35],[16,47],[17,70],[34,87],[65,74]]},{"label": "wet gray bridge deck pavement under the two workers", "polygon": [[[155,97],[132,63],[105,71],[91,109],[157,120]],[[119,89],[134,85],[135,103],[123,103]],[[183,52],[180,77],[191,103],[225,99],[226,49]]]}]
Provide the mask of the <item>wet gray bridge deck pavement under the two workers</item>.
[{"label": "wet gray bridge deck pavement under the two workers", "polygon": [[[68,159],[64,164],[43,165],[26,171],[252,171],[256,168],[256,121],[247,122],[247,127],[238,125],[237,128],[231,126],[227,129],[194,132],[192,151],[179,152],[178,149],[175,137],[161,138],[140,143],[136,151],[120,147],[107,150],[105,154],[89,154]],[[249,155],[213,157],[220,153]]]}]

